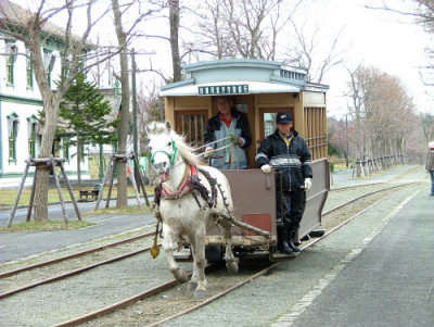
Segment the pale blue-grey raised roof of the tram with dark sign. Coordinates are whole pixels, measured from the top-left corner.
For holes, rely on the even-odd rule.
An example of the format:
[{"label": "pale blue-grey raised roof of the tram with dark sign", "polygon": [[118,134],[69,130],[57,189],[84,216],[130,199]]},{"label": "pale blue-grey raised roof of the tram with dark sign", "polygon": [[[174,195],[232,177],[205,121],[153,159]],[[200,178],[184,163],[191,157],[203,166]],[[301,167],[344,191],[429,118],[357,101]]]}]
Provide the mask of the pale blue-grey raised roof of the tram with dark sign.
[{"label": "pale blue-grey raised roof of the tram with dark sign", "polygon": [[182,66],[187,79],[165,85],[162,97],[286,93],[324,91],[326,85],[306,81],[307,70],[277,61],[227,59]]}]

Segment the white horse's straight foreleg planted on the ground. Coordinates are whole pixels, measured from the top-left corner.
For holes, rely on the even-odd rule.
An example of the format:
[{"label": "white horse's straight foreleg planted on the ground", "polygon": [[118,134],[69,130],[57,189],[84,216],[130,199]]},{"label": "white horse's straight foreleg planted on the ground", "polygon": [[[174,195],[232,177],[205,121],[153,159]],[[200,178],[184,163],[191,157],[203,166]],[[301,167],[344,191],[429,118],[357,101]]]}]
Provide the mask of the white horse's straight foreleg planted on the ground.
[{"label": "white horse's straight foreleg planted on the ground", "polygon": [[194,241],[192,241],[192,252],[193,252],[193,272],[196,274],[197,282],[196,289],[194,290],[194,299],[201,300],[206,295],[206,278],[205,278],[205,237],[206,230],[205,226],[197,228],[194,235]]}]

